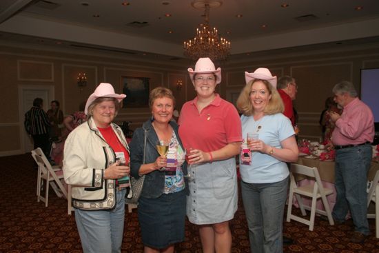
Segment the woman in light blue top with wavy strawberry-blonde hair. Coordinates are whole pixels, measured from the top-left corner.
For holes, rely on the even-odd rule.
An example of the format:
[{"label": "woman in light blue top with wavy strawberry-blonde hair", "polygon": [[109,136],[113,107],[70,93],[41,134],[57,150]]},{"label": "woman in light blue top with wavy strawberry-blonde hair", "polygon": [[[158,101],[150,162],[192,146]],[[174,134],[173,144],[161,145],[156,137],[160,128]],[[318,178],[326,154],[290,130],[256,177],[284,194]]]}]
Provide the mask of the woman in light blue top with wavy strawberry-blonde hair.
[{"label": "woman in light blue top with wavy strawberry-blonde hair", "polygon": [[[237,100],[243,136],[258,134],[247,148],[252,159],[240,161],[241,192],[251,251],[283,252],[283,213],[289,171],[286,162],[298,159],[294,128],[285,117],[276,91],[276,77],[267,68],[245,72],[246,85]],[[245,143],[245,141],[244,141]],[[249,155],[249,153],[245,154]]]}]

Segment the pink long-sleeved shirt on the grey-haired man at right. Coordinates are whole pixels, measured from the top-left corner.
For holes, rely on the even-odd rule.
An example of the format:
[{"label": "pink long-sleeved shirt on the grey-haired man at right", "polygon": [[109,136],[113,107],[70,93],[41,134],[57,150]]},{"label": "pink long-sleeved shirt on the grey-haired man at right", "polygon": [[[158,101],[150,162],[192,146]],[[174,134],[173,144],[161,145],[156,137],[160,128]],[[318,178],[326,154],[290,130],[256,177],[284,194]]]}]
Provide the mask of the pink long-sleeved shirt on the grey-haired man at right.
[{"label": "pink long-sleeved shirt on the grey-haired man at right", "polygon": [[340,119],[336,121],[331,141],[334,145],[354,145],[372,142],[374,134],[371,109],[356,98],[344,106]]}]

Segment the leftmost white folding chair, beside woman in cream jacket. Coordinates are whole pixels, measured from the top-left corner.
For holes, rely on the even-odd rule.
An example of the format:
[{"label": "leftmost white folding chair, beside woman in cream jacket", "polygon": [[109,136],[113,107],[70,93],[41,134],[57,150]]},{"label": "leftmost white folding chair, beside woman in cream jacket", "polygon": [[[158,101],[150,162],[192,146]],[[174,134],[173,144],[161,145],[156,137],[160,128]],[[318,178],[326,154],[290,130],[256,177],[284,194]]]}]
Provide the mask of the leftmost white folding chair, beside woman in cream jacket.
[{"label": "leftmost white folding chair, beside woman in cream jacket", "polygon": [[[50,164],[41,148],[32,150],[32,157],[38,165],[37,175],[37,202],[43,201],[45,207],[48,206],[49,185],[51,185],[57,196],[65,196],[68,198],[68,192],[65,190],[61,179],[63,179],[63,171],[59,167]],[[43,181],[45,181],[45,196],[41,195],[41,188],[43,188]]]}]

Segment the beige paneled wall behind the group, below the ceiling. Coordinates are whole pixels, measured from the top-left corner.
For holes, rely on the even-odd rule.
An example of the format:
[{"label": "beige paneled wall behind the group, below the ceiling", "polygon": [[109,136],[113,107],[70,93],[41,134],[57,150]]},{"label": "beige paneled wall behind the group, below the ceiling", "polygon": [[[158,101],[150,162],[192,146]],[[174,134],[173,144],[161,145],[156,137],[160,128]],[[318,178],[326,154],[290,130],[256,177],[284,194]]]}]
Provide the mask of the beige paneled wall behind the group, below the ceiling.
[{"label": "beige paneled wall behind the group, below the ceiling", "polygon": [[[99,55],[84,52],[54,52],[52,50],[27,49],[28,47],[1,46],[0,48],[0,156],[23,152],[21,133],[23,117],[19,117],[19,87],[39,85],[54,88],[53,99],[61,102],[64,114],[78,109],[100,82],[114,85],[121,92],[121,77],[149,77],[150,89],[158,85],[171,88],[178,108],[195,96],[188,78],[188,61],[143,61],[119,55]],[[295,101],[299,113],[300,137],[318,139],[319,114],[331,88],[338,81],[353,81],[359,90],[360,68],[379,68],[379,45],[370,49],[329,49],[328,52],[310,50],[303,52],[260,53],[244,61],[223,63],[223,81],[218,87],[221,96],[235,101],[245,85],[245,70],[252,72],[266,67],[280,77],[288,74],[296,78],[298,96]],[[193,66],[192,66],[193,68]],[[85,87],[76,84],[76,77],[83,73],[88,77]],[[183,81],[183,88],[176,89],[176,81]],[[50,101],[47,101],[48,104]],[[150,116],[149,108],[122,109],[116,121],[132,121],[132,128],[139,127]]]}]

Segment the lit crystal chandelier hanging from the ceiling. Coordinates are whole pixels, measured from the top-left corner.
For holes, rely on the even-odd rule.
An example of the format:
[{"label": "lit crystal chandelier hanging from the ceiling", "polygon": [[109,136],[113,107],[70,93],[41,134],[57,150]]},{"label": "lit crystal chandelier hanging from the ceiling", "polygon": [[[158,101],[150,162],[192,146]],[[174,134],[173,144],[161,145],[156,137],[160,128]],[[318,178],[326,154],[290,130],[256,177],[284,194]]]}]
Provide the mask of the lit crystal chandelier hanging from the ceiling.
[{"label": "lit crystal chandelier hanging from the ceiling", "polygon": [[222,61],[227,59],[230,54],[230,42],[221,37],[216,28],[209,28],[209,4],[213,3],[221,5],[221,1],[195,1],[192,3],[195,8],[205,8],[205,23],[196,28],[193,39],[183,42],[184,55],[189,59],[197,60],[201,57],[209,57],[213,61]]}]

